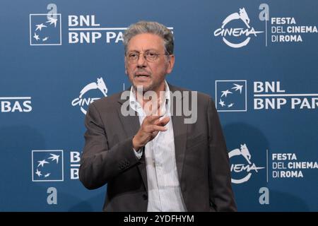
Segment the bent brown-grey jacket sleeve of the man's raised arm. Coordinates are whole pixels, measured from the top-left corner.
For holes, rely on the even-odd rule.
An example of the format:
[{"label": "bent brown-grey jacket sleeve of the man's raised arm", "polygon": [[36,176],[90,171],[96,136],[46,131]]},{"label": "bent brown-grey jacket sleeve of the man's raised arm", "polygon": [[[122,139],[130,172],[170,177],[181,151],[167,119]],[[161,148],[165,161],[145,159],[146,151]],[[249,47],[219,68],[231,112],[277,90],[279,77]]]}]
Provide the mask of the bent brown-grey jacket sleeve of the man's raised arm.
[{"label": "bent brown-grey jacket sleeve of the man's raised arm", "polygon": [[84,135],[85,145],[81,155],[79,179],[87,189],[98,189],[112,178],[139,162],[129,137],[109,147],[105,126],[94,103],[88,107]]}]

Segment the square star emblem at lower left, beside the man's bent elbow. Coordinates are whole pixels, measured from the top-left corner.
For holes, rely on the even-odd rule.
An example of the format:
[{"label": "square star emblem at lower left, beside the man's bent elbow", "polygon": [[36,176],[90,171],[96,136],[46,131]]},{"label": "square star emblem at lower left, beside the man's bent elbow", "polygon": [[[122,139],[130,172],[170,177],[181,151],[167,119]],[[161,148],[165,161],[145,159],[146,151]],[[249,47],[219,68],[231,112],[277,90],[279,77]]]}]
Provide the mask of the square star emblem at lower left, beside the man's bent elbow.
[{"label": "square star emblem at lower left, beside the man's bent elbow", "polygon": [[63,182],[63,150],[32,150],[32,181]]}]

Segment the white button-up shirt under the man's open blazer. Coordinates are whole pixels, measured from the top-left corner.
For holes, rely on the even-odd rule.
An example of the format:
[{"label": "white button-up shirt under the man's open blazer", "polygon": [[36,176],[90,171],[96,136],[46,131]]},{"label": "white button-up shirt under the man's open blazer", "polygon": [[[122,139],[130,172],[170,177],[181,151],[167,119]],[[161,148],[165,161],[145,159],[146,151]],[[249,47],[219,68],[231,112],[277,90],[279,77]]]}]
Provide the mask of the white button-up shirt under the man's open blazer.
[{"label": "white button-up shirt under the man's open blazer", "polygon": [[[139,116],[142,124],[146,113],[136,101],[134,88],[131,87],[129,105]],[[177,165],[175,161],[175,139],[173,135],[172,118],[170,114],[170,89],[165,81],[165,117],[170,121],[165,125],[167,131],[159,132],[152,141],[149,141],[144,153],[135,151],[140,159],[145,155],[147,182],[148,182],[148,212],[184,212],[186,211],[179,186]]]}]

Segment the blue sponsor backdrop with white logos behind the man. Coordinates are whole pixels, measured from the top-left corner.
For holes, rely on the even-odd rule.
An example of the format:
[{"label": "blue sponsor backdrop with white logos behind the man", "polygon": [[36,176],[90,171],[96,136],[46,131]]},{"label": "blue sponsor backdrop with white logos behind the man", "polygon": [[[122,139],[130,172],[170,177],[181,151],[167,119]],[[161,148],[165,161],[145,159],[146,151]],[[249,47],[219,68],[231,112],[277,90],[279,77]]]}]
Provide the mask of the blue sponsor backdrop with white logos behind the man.
[{"label": "blue sponsor backdrop with white logos behind the man", "polygon": [[167,81],[216,102],[239,211],[318,211],[318,1],[1,1],[0,210],[101,211],[88,105],[129,87],[123,32],[175,35]]}]

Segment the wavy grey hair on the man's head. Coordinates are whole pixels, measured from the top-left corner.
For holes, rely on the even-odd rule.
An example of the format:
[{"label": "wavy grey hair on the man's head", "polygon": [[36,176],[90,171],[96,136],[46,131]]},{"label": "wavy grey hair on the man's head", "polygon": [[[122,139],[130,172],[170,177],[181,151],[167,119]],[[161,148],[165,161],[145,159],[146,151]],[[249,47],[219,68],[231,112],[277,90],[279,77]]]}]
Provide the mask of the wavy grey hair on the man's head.
[{"label": "wavy grey hair on the man's head", "polygon": [[173,54],[174,43],[172,32],[167,29],[165,25],[152,21],[139,21],[127,28],[127,30],[124,32],[125,53],[127,51],[128,42],[131,40],[131,38],[143,33],[151,33],[153,35],[162,37],[165,45],[165,52],[167,52],[168,54]]}]

